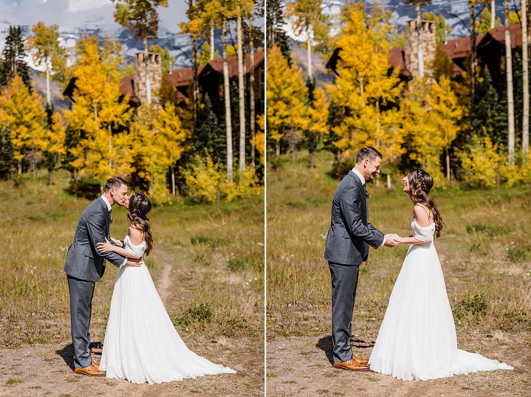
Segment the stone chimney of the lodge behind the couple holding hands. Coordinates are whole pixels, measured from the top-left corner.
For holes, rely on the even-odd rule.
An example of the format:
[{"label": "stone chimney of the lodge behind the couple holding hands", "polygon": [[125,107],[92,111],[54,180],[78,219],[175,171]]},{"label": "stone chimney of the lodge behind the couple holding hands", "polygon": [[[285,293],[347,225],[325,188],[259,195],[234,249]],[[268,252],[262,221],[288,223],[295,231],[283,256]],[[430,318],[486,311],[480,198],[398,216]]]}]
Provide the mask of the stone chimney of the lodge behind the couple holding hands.
[{"label": "stone chimney of the lodge behind the couple holding hands", "polygon": [[[435,39],[435,22],[421,21],[421,40],[424,55],[424,77],[430,78],[433,75],[432,63],[435,57],[436,39]],[[406,22],[406,48],[404,48],[404,64],[406,69],[418,77],[418,45],[417,45],[417,21],[412,19]]]}]

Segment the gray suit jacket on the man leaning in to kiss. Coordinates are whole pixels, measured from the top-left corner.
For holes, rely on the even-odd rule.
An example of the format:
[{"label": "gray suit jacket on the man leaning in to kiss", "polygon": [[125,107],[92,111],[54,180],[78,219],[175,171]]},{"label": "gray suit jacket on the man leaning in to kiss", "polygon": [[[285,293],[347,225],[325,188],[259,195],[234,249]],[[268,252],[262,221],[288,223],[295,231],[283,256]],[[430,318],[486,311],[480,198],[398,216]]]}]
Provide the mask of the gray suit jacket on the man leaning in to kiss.
[{"label": "gray suit jacket on the man leaning in to kiss", "polygon": [[125,260],[116,252],[100,254],[96,247],[99,242],[109,239],[110,216],[107,204],[98,197],[85,208],[75,229],[74,241],[66,254],[64,271],[80,280],[97,282],[105,273],[105,261],[120,267]]}]

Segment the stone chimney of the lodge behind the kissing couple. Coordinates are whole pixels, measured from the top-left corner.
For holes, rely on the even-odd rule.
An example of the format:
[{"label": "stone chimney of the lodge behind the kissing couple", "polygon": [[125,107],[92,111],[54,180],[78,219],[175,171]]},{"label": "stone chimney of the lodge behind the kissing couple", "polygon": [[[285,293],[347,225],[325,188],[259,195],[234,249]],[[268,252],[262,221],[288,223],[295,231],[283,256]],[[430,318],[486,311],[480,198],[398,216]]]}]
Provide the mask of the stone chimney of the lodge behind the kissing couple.
[{"label": "stone chimney of the lodge behind the kissing couple", "polygon": [[[162,56],[160,53],[148,53],[148,72],[151,86],[151,103],[159,102],[157,96],[162,80]],[[134,58],[134,92],[141,104],[148,103],[145,89],[145,63],[144,53],[136,53]]]}]

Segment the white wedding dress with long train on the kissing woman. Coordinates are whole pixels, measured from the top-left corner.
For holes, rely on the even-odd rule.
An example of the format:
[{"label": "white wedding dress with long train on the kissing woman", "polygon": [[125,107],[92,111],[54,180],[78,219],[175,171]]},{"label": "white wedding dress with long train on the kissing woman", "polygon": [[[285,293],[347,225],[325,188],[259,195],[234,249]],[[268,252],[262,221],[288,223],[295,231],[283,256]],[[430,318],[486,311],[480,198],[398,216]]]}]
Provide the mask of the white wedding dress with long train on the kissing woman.
[{"label": "white wedding dress with long train on the kissing woman", "polygon": [[[133,246],[129,235],[124,248],[140,258],[145,242]],[[202,375],[236,373],[213,364],[186,347],[160,300],[148,268],[119,268],[110,302],[100,369],[108,378],[132,383],[182,381]]]}]

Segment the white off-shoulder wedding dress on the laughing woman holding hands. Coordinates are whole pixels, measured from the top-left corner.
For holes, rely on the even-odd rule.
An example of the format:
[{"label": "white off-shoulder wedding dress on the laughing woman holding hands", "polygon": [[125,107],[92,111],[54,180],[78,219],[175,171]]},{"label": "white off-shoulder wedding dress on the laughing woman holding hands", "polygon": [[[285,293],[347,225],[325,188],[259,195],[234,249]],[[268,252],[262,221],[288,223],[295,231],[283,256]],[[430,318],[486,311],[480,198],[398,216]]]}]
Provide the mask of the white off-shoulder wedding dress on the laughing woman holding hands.
[{"label": "white off-shoulder wedding dress on the laughing woman holding hands", "polygon": [[476,371],[513,369],[457,348],[456,327],[441,264],[433,244],[435,223],[413,236],[423,244],[407,251],[369,359],[373,371],[404,381],[443,378]]}]

